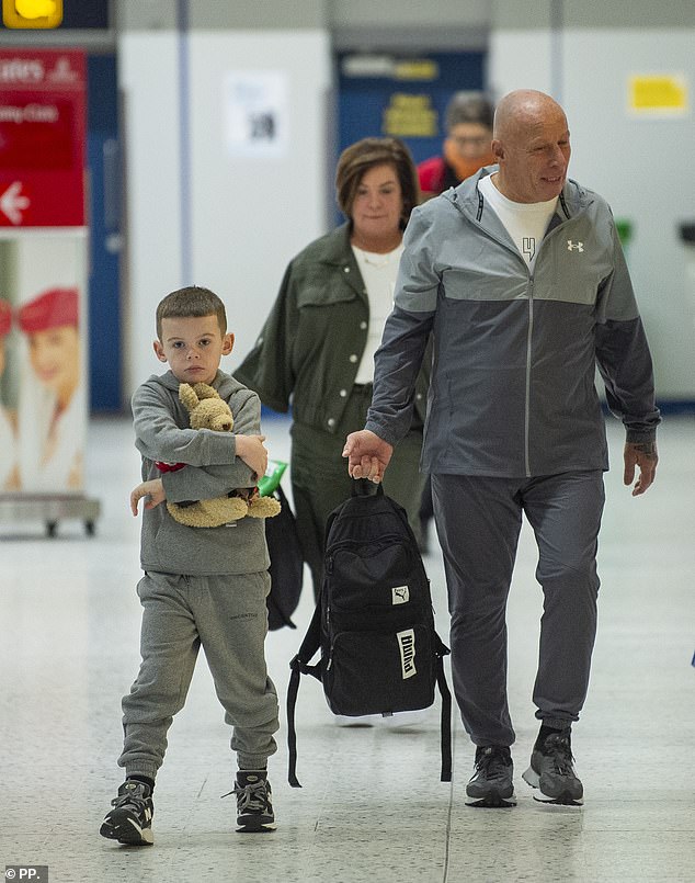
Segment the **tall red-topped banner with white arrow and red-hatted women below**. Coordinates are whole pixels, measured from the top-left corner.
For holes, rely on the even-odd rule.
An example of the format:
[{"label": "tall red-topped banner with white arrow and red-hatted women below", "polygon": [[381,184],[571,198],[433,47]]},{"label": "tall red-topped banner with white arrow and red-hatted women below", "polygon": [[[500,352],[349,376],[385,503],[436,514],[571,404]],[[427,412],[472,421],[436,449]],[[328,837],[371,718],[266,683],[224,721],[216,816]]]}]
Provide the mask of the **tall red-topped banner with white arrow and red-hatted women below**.
[{"label": "tall red-topped banner with white arrow and red-hatted women below", "polygon": [[0,52],[0,494],[83,489],[84,56]]}]

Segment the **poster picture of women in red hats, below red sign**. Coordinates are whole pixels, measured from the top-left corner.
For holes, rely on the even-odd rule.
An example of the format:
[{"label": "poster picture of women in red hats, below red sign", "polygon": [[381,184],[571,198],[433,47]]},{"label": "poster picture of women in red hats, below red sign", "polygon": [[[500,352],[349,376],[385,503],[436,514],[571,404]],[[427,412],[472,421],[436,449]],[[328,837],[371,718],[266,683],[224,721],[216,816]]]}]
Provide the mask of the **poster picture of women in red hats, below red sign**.
[{"label": "poster picture of women in red hats, below red sign", "polygon": [[83,489],[84,247],[0,233],[0,491]]}]

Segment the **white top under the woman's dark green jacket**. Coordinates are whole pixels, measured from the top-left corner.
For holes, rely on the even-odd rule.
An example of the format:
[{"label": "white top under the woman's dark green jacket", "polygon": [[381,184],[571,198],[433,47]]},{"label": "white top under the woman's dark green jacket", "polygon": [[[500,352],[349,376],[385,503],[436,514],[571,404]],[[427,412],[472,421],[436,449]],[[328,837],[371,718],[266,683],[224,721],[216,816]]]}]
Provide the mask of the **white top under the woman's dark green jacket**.
[{"label": "white top under the woman's dark green jacket", "polygon": [[363,251],[356,246],[352,247],[362,273],[367,297],[369,298],[369,327],[367,329],[367,343],[364,348],[362,361],[357,369],[355,383],[372,383],[374,381],[374,353],[381,343],[384,325],[394,309],[394,292],[400,256],[403,253],[402,242],[392,251],[376,254],[373,251]]}]

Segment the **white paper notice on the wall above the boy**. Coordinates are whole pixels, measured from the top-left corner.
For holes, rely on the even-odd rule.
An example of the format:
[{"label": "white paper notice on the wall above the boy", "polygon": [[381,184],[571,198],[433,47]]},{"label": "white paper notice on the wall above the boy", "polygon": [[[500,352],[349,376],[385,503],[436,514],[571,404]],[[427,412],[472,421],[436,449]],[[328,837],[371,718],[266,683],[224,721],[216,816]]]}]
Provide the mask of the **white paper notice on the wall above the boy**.
[{"label": "white paper notice on the wall above the boy", "polygon": [[278,70],[230,71],[225,79],[228,152],[281,157],[287,152],[287,76]]}]

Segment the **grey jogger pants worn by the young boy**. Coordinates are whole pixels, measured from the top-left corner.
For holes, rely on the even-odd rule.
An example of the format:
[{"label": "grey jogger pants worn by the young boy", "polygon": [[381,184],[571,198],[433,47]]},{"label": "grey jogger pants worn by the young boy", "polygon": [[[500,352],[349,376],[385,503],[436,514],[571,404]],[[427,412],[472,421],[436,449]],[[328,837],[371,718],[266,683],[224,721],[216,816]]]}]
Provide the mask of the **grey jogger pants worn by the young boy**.
[{"label": "grey jogger pants worn by the young boy", "polygon": [[[201,646],[213,675],[231,749],[241,769],[261,769],[276,750],[277,694],[264,643],[270,577],[255,574],[179,576],[147,573],[137,680],[123,699],[125,740],[118,766],[155,778],[167,731],[185,703]],[[194,749],[195,750],[195,749]]]}]

